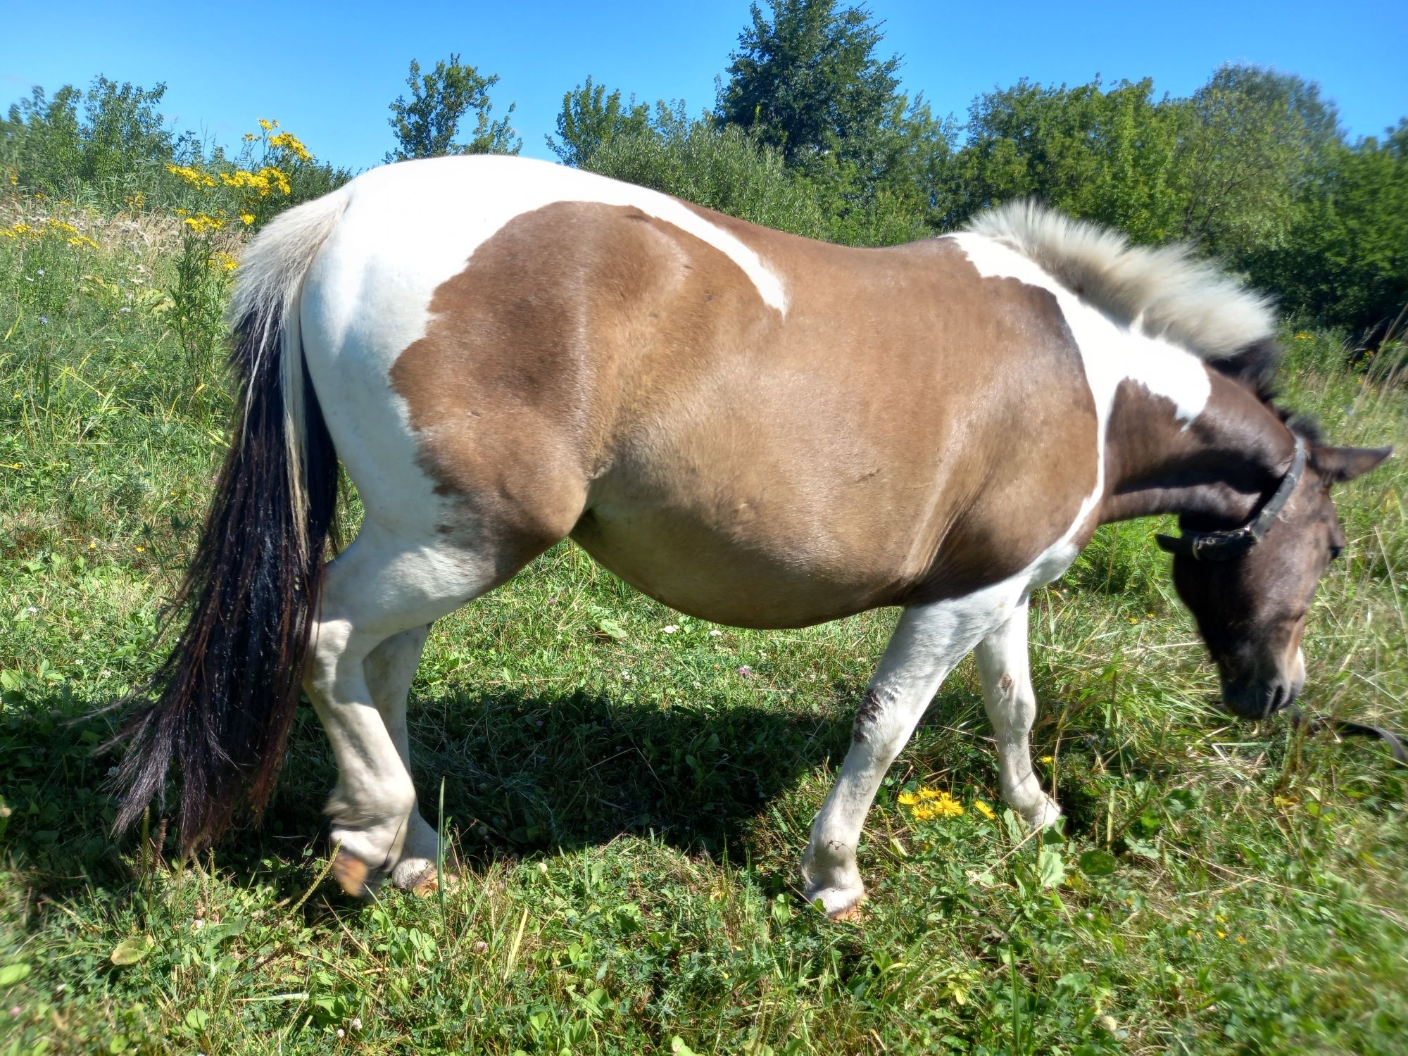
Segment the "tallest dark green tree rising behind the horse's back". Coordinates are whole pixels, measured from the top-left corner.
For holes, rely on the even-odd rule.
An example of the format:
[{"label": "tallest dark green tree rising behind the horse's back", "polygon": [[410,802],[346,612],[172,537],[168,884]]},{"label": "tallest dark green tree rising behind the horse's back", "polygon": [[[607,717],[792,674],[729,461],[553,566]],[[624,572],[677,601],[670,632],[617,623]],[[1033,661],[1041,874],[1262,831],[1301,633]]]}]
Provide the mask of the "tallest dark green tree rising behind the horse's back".
[{"label": "tallest dark green tree rising behind the horse's back", "polygon": [[881,23],[836,0],[772,0],[772,21],[758,4],[749,10],[717,118],[750,130],[788,165],[836,153],[867,166],[900,84],[900,56],[874,56]]}]

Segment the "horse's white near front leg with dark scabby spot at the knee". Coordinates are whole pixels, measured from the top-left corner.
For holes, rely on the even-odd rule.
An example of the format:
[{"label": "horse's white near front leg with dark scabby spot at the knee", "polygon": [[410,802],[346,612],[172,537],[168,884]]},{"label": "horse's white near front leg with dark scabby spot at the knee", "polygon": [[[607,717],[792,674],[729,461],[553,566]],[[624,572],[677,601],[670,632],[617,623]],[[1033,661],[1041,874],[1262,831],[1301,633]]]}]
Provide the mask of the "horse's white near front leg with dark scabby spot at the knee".
[{"label": "horse's white near front leg with dark scabby spot at the knee", "polygon": [[900,617],[866,689],[841,776],[811,826],[801,863],[807,901],[819,898],[828,914],[842,917],[865,895],[856,846],[886,770],[943,677],[1019,597],[1021,584],[1005,582],[963,598],[915,605]]}]

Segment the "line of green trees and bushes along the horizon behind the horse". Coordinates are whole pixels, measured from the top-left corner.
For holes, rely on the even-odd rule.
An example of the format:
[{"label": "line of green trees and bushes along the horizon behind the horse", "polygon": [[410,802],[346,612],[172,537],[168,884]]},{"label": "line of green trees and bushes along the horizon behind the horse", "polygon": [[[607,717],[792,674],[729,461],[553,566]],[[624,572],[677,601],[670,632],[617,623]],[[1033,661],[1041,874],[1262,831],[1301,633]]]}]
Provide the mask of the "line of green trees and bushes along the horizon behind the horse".
[{"label": "line of green trees and bushes along the horizon behind the horse", "polygon": [[[1408,118],[1352,142],[1316,84],[1224,66],[1188,97],[1155,96],[1150,80],[1022,80],[976,97],[960,121],[900,90],[900,56],[883,42],[881,23],[838,0],[755,4],[712,110],[638,103],[589,76],[563,96],[548,145],[567,165],[855,245],[924,238],[1035,197],[1138,242],[1193,242],[1286,314],[1366,342],[1408,303]],[[413,62],[408,96],[390,104],[387,161],[517,152],[513,106],[490,115],[496,82],[458,55],[428,70]],[[248,170],[252,151],[268,152],[269,137],[227,158],[173,135],[163,92],[104,77],[87,93],[35,89],[0,122],[0,166],[25,189],[121,207],[189,193],[173,166]],[[277,161],[290,204],[349,177],[311,156]]]}]

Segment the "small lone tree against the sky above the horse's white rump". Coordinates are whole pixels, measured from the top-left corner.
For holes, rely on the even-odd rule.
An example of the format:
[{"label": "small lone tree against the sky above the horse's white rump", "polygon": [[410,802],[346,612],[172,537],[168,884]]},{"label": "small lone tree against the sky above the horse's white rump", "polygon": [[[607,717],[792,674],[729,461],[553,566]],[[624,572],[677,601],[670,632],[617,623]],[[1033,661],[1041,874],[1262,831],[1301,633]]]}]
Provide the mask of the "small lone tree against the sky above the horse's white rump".
[{"label": "small lone tree against the sky above the horse's white rump", "polygon": [[[489,89],[498,83],[498,75],[480,76],[473,66],[460,65],[459,55],[451,55],[435,63],[429,73],[421,73],[421,65],[411,59],[411,73],[406,84],[411,99],[397,96],[390,104],[389,124],[396,130],[397,148],[386,155],[387,162],[408,158],[436,158],[446,153],[518,153],[522,139],[514,135],[508,114],[491,121],[489,114]],[[456,142],[460,135],[459,122],[465,114],[474,113],[474,135],[469,142]]]}]

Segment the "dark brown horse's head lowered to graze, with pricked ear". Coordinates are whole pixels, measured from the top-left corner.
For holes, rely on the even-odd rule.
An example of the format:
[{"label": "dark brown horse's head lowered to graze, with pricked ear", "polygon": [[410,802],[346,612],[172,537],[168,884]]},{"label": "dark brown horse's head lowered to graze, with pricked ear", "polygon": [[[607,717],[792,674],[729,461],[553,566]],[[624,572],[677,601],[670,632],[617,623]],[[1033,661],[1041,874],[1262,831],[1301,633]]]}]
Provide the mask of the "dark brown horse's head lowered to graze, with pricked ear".
[{"label": "dark brown horse's head lowered to graze, with pricked ear", "polygon": [[1159,536],[1173,582],[1222,677],[1222,700],[1245,718],[1290,704],[1305,684],[1301,636],[1315,584],[1345,546],[1331,484],[1353,480],[1391,448],[1308,448],[1247,524]]}]

